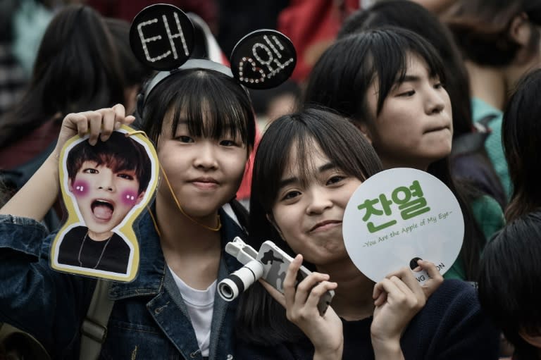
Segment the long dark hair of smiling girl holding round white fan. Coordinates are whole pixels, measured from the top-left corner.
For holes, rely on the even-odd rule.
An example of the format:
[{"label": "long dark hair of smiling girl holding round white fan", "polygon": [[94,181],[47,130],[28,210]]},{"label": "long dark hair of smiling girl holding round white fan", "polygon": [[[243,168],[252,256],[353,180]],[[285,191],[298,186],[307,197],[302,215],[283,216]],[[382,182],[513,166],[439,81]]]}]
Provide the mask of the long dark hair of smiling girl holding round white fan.
[{"label": "long dark hair of smiling girl holding round white fan", "polygon": [[[327,109],[328,110],[328,109]],[[323,154],[344,173],[366,180],[383,170],[378,155],[352,123],[323,108],[308,108],[270,123],[259,142],[251,179],[249,244],[259,249],[273,240],[285,252],[293,250],[270,223],[282,175],[296,151],[300,181],[310,177],[311,149],[317,144]],[[305,266],[313,269],[309,263]],[[244,341],[273,345],[294,342],[304,335],[287,321],[285,309],[259,283],[244,292],[237,312],[237,335]]]}]

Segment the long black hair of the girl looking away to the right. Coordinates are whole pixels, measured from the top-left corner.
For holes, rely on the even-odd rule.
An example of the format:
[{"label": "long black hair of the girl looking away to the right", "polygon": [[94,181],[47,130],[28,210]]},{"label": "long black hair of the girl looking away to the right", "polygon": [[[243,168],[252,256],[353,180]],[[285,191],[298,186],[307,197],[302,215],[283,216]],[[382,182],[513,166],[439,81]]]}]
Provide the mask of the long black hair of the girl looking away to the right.
[{"label": "long black hair of the girl looking away to the right", "polygon": [[[370,125],[376,121],[394,84],[404,79],[409,54],[425,61],[430,77],[445,82],[442,60],[428,41],[409,30],[382,27],[349,35],[332,44],[313,67],[304,103],[334,108],[358,127]],[[379,85],[375,116],[368,108],[366,96],[374,81]],[[459,201],[465,223],[460,259],[464,261],[466,279],[473,280],[485,237],[475,223],[464,190],[452,178],[449,156],[431,163],[428,173],[444,182]]]}]

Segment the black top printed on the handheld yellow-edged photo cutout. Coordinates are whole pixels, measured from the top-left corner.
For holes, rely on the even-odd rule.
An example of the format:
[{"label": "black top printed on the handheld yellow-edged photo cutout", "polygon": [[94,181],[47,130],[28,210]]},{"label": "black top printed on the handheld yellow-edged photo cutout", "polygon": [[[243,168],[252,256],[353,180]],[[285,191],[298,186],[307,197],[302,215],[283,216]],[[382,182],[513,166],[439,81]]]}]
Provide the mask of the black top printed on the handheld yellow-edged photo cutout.
[{"label": "black top printed on the handheld yellow-edged photo cutout", "polygon": [[82,268],[125,274],[128,271],[130,247],[113,232],[111,239],[92,240],[88,228],[77,226],[64,235],[58,249],[58,263]]}]

